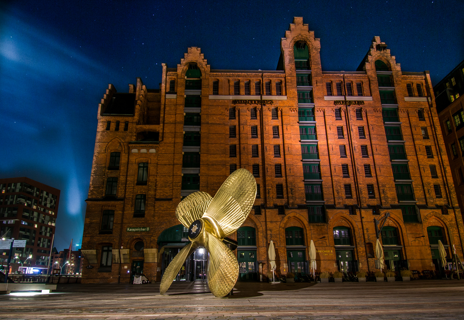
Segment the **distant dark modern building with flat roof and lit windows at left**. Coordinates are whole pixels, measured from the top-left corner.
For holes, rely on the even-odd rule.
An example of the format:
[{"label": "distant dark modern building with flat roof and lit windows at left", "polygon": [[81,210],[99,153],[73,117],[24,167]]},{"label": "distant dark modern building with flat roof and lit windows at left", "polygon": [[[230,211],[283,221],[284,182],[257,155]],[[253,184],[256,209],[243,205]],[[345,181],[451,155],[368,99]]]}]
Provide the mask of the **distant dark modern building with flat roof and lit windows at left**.
[{"label": "distant dark modern building with flat roof and lit windows at left", "polygon": [[[25,248],[13,248],[9,272],[47,272],[55,234],[60,190],[32,179],[0,179],[1,238],[26,240]],[[0,251],[1,269],[9,250]]]}]

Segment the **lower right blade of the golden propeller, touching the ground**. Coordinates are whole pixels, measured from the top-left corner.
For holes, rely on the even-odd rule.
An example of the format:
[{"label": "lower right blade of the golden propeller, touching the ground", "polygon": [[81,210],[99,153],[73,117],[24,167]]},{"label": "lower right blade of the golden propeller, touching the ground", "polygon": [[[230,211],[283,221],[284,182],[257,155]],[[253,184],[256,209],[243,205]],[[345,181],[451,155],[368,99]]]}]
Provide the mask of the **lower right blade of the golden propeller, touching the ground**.
[{"label": "lower right blade of the golden propeller, touching the ground", "polygon": [[205,247],[209,252],[206,278],[208,287],[217,297],[226,296],[237,282],[238,262],[234,253],[213,234],[206,232]]}]

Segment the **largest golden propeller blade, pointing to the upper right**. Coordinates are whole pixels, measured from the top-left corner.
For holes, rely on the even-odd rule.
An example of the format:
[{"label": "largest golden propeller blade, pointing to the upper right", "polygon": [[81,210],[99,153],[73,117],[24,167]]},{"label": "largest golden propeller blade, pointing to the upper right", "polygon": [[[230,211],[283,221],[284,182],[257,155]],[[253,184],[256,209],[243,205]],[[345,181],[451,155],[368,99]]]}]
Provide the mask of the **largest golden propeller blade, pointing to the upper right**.
[{"label": "largest golden propeller blade, pointing to the upper right", "polygon": [[219,188],[202,218],[212,223],[216,236],[225,238],[242,225],[255,198],[255,177],[247,169],[238,169]]}]

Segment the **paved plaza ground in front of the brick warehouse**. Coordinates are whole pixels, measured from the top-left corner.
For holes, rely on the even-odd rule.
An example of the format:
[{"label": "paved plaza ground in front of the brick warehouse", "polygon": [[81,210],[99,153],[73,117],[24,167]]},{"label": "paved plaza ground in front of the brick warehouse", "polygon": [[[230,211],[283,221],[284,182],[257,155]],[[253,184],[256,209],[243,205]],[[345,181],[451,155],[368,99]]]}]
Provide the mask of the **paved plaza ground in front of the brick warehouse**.
[{"label": "paved plaza ground in front of the brick warehouse", "polygon": [[59,285],[48,295],[0,296],[4,319],[461,319],[464,280],[413,282],[238,282],[218,299],[202,282]]}]

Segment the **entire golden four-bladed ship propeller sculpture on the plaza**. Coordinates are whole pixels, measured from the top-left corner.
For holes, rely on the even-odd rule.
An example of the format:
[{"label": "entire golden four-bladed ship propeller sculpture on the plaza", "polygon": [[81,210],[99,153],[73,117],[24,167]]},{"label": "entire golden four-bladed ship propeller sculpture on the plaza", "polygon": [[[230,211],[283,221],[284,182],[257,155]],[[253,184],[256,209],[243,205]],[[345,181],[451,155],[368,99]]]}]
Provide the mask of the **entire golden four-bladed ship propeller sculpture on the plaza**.
[{"label": "entire golden four-bladed ship propeller sculpture on the plaza", "polygon": [[219,188],[214,198],[206,192],[188,195],[177,206],[175,214],[188,228],[187,244],[171,261],[161,279],[160,293],[164,295],[180,268],[195,249],[208,251],[206,279],[216,297],[226,296],[237,282],[238,262],[227,247],[227,236],[236,232],[253,207],[256,180],[250,171],[234,171]]}]

